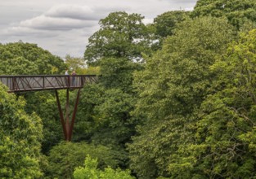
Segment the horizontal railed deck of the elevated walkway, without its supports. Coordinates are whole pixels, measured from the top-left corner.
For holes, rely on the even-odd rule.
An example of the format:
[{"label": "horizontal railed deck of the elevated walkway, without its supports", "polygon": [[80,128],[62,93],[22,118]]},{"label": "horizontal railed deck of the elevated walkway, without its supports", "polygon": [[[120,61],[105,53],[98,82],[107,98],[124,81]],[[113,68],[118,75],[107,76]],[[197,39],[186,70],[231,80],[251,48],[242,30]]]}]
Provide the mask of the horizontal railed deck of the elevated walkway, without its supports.
[{"label": "horizontal railed deck of the elevated walkway, without its supports", "polygon": [[96,75],[18,75],[0,76],[0,82],[7,85],[8,92],[46,89],[81,89],[83,85],[97,81]]}]

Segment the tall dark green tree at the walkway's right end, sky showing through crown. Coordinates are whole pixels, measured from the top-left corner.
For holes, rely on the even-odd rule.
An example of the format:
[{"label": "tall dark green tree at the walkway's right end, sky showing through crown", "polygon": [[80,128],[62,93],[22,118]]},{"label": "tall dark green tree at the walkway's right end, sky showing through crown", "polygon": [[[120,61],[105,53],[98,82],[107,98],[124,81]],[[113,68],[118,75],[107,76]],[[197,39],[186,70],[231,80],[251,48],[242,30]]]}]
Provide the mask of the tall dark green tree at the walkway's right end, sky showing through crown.
[{"label": "tall dark green tree at the walkway's right end, sky showing through crown", "polygon": [[138,14],[110,13],[100,20],[101,28],[89,38],[84,53],[89,64],[100,67],[101,77],[97,85],[83,89],[83,111],[78,114],[78,123],[83,123],[80,129],[86,132],[84,138],[110,146],[117,153],[121,167],[127,165],[125,143],[131,140],[137,124],[129,114],[136,100],[132,73],[141,70],[136,60],[142,58],[142,53],[151,51],[142,20]]}]

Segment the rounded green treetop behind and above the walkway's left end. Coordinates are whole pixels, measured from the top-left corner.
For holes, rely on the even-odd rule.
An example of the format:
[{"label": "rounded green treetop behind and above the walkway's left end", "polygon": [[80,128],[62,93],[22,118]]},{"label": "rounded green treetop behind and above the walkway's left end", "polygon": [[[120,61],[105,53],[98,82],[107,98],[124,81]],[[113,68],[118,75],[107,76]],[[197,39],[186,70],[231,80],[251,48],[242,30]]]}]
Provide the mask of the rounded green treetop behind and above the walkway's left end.
[{"label": "rounded green treetop behind and above the walkway's left end", "polygon": [[22,41],[0,44],[0,74],[60,74],[64,70],[65,64],[61,58],[35,44]]}]

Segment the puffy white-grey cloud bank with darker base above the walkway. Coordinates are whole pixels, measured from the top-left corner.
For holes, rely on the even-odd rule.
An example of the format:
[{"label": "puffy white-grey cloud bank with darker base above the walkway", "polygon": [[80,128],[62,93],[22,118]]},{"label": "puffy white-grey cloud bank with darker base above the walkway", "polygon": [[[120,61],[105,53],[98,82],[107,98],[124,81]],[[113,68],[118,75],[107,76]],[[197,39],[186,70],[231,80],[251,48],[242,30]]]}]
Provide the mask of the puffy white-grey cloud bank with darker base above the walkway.
[{"label": "puffy white-grey cloud bank with darker base above the walkway", "polygon": [[87,6],[61,4],[50,8],[43,15],[22,20],[17,28],[34,28],[47,31],[67,31],[96,26],[99,15]]}]

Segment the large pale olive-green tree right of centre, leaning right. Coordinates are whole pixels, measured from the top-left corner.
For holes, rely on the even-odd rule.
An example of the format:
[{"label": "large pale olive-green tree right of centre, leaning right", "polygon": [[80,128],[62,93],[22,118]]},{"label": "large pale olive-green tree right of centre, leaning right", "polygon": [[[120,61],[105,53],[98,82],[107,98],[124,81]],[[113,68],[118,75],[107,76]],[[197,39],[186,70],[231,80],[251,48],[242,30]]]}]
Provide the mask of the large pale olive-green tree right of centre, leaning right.
[{"label": "large pale olive-green tree right of centre, leaning right", "polygon": [[209,67],[232,37],[226,20],[186,20],[164,41],[163,49],[146,60],[146,70],[136,73],[134,85],[140,98],[134,115],[144,116],[146,122],[129,152],[139,177],[170,177],[173,163],[182,165],[180,178],[190,176],[190,162],[195,159],[181,156],[193,140],[193,112],[211,92],[214,73]]}]

